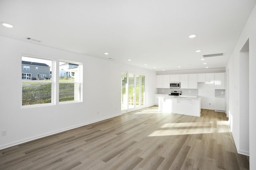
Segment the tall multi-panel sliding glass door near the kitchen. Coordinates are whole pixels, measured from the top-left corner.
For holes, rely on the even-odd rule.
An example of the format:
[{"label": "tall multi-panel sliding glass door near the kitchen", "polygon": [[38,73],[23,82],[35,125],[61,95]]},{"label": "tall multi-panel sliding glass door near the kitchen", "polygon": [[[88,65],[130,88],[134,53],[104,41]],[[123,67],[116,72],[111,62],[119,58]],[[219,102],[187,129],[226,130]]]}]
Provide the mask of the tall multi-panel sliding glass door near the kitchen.
[{"label": "tall multi-panel sliding glass door near the kitchen", "polygon": [[122,73],[121,112],[141,107],[145,103],[145,76]]}]

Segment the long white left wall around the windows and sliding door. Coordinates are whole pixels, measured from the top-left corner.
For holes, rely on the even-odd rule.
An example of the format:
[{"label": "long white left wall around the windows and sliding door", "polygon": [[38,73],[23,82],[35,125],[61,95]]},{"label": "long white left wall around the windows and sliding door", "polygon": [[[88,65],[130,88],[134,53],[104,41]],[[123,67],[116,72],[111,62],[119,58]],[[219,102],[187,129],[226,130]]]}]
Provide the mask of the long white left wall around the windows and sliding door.
[{"label": "long white left wall around the windows and sliding door", "polygon": [[[154,105],[154,71],[1,36],[0,47],[0,131],[7,130],[6,136],[0,135],[0,149],[120,115],[121,72],[145,75],[146,104]],[[83,102],[21,108],[24,54],[83,63]]]}]

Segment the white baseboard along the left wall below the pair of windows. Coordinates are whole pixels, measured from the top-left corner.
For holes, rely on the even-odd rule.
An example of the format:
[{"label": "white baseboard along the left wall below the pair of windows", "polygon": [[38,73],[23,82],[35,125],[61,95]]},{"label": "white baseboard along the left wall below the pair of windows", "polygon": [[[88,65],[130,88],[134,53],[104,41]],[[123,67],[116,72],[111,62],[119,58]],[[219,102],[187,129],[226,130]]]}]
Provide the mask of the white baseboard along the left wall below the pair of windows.
[{"label": "white baseboard along the left wall below the pair of windows", "polygon": [[80,125],[75,125],[75,126],[67,127],[67,128],[64,128],[64,129],[57,130],[57,131],[52,131],[52,132],[45,133],[45,134],[42,134],[42,135],[37,135],[37,136],[34,136],[34,137],[22,139],[22,140],[20,140],[20,141],[8,143],[8,144],[6,144],[6,145],[1,145],[1,146],[0,146],[0,150],[1,150],[1,149],[8,148],[8,147],[13,147],[13,146],[15,146],[15,145],[19,145],[19,144],[21,144],[21,143],[33,141],[33,140],[35,140],[35,139],[40,139],[40,138],[42,138],[42,137],[47,137],[47,136],[50,136],[50,135],[54,135],[54,134],[56,134],[56,133],[60,133],[60,132],[68,131],[68,130],[75,129],[75,128],[78,128],[78,127],[82,127],[82,126],[85,126],[85,125],[89,125],[89,124],[92,124],[92,123],[96,123],[96,122],[98,122],[98,121],[110,119],[110,118],[112,118],[112,117],[116,117],[116,116],[119,116],[119,115],[121,115],[121,114],[116,114],[116,115],[112,115],[112,116],[109,116],[109,117],[104,117],[104,118],[102,118],[102,119],[97,119],[97,120],[95,120],[95,121],[82,123],[82,124],[80,124]]}]

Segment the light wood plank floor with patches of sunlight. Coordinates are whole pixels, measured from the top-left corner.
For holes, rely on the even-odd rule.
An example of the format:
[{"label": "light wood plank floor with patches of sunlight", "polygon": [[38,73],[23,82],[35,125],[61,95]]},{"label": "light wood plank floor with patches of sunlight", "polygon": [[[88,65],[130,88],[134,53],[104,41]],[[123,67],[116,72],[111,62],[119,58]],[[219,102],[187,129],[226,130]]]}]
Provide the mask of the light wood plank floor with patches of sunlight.
[{"label": "light wood plank floor with patches of sunlight", "polygon": [[0,150],[1,170],[247,170],[248,160],[225,113],[194,117],[157,106]]}]

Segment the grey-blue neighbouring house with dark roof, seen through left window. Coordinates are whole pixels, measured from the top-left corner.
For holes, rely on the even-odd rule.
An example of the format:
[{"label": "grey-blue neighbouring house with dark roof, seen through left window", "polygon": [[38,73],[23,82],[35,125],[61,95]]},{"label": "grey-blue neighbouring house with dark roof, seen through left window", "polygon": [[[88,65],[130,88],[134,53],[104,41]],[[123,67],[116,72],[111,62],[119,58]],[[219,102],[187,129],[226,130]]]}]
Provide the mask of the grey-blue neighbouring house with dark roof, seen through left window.
[{"label": "grey-blue neighbouring house with dark roof, seen through left window", "polygon": [[22,61],[22,80],[44,80],[50,78],[50,66],[47,64]]}]

